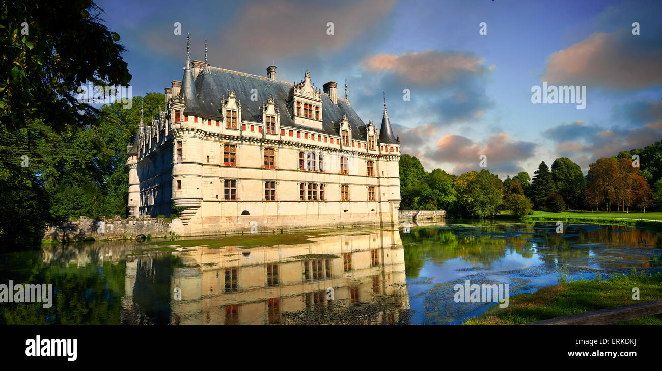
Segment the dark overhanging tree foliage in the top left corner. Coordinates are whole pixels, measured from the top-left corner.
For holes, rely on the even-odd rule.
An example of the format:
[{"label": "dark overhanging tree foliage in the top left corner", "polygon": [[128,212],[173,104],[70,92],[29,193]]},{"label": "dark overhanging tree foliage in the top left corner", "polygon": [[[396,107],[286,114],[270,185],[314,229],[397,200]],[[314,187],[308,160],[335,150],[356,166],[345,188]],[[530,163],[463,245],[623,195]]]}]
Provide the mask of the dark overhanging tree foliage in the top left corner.
[{"label": "dark overhanging tree foliage in the top left corner", "polygon": [[101,9],[91,0],[17,0],[3,1],[2,10],[0,124],[17,130],[41,119],[56,131],[96,124],[98,109],[79,103],[78,87],[131,79]]}]

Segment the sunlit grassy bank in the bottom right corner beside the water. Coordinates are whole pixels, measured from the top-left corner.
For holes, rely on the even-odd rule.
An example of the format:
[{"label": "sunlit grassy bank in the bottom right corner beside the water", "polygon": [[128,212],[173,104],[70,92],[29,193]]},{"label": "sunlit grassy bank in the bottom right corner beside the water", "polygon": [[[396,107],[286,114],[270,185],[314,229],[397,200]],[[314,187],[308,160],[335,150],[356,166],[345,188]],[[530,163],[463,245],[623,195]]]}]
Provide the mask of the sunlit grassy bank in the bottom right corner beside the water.
[{"label": "sunlit grassy bank in the bottom right corner beside the water", "polygon": [[[632,288],[639,288],[639,300],[632,299]],[[464,324],[520,325],[655,299],[662,299],[662,272],[653,276],[614,274],[606,280],[574,281],[541,288],[534,293],[518,293],[510,296],[508,307],[495,305]],[[618,325],[662,325],[662,315],[632,319]]]}]

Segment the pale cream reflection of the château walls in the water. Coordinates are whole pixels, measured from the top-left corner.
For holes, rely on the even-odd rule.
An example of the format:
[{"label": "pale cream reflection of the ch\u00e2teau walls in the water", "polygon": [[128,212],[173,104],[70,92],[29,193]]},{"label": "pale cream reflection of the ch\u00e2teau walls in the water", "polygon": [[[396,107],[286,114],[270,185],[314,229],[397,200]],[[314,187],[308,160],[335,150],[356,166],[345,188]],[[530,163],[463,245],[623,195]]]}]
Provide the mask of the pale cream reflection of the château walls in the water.
[{"label": "pale cream reflection of the ch\u00e2teau walls in the water", "polygon": [[[181,255],[171,323],[398,323],[408,311],[400,235],[313,237],[311,243],[199,248]],[[334,299],[327,299],[333,288]],[[405,313],[403,315],[403,313]]]}]

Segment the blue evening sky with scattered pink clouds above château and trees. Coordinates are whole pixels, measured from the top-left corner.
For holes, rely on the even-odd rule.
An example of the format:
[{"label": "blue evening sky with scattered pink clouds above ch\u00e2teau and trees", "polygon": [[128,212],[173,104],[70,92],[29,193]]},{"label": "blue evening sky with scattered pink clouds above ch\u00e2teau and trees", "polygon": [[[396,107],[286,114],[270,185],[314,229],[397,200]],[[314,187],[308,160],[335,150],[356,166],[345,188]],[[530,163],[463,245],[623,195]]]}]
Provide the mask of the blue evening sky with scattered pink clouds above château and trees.
[{"label": "blue evening sky with scattered pink clouds above ch\u00e2teau and trees", "polygon": [[[501,179],[559,157],[586,173],[598,158],[662,139],[662,1],[97,5],[126,48],[134,95],[181,80],[190,32],[191,58],[203,60],[207,40],[214,67],[266,76],[273,63],[281,81],[309,70],[318,87],[337,81],[339,97],[347,79],[365,123],[381,123],[385,93],[402,153],[428,171],[481,170],[485,155]],[[584,102],[533,103],[544,84],[545,98],[574,86]]]}]

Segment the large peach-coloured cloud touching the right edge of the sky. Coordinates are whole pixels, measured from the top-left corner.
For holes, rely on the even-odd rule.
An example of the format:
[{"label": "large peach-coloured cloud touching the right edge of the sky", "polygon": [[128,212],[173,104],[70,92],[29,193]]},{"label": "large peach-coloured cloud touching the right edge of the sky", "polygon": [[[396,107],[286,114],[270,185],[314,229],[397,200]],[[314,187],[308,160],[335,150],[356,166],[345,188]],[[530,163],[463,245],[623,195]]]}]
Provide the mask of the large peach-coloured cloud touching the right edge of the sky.
[{"label": "large peach-coloured cloud touching the right edge of the sky", "polygon": [[635,90],[662,83],[661,34],[633,35],[630,29],[595,32],[549,56],[543,81]]}]

